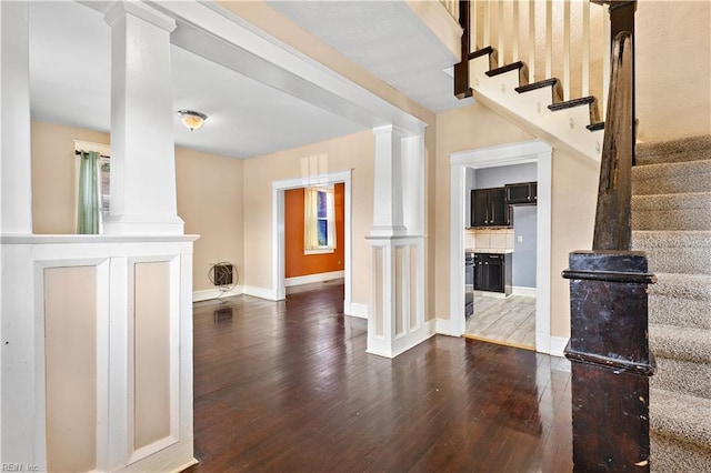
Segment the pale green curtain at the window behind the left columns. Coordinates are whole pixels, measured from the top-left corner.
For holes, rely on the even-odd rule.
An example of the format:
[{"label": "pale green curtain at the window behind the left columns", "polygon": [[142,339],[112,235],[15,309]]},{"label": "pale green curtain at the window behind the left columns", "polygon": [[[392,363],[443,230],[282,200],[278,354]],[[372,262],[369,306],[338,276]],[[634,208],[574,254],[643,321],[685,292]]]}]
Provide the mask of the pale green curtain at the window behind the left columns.
[{"label": "pale green curtain at the window behind the left columns", "polygon": [[77,233],[99,233],[99,153],[81,151],[79,154],[79,202]]}]

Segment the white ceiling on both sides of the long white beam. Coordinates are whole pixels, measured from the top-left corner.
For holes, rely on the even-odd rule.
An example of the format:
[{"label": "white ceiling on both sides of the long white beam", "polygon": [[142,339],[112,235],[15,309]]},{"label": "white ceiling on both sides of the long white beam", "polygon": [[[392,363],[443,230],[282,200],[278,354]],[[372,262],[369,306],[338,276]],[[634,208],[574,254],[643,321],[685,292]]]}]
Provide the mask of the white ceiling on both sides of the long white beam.
[{"label": "white ceiling on both sides of the long white beam", "polygon": [[[361,67],[432,111],[461,105],[451,59],[422,34],[402,2],[274,2]],[[100,131],[110,129],[111,31],[103,16],[74,1],[30,2],[32,118]],[[363,124],[172,46],[173,108],[209,115],[196,132],[176,117],[176,143],[252,158],[363,130]]]}]

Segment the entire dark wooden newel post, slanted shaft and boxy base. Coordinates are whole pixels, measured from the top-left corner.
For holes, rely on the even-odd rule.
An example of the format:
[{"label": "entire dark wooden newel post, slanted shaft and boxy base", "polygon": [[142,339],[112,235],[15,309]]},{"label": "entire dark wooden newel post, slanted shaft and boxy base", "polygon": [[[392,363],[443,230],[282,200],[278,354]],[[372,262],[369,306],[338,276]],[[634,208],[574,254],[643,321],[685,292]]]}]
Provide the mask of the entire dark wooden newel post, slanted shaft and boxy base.
[{"label": "entire dark wooden newel post, slanted shaft and boxy base", "polygon": [[634,1],[610,6],[612,67],[592,251],[570,254],[573,471],[650,471],[647,288],[630,251],[634,162]]}]

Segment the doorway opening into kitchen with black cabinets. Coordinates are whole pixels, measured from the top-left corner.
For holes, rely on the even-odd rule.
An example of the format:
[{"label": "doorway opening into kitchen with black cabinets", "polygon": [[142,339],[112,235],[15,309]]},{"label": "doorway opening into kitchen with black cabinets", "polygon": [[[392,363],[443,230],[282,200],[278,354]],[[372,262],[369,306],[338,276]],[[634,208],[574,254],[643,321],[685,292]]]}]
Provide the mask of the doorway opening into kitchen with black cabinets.
[{"label": "doorway opening into kitchen with black cabinets", "polygon": [[[471,276],[475,275],[477,281],[472,285],[472,304],[467,308],[463,336],[534,350],[537,205],[521,202],[504,207],[503,200],[510,192],[504,187],[537,181],[537,163],[467,167],[465,177],[464,207],[472,215],[472,227],[464,230],[465,254],[472,262],[465,268],[467,288],[472,285]],[[535,202],[530,194],[533,189],[525,185],[522,197]],[[488,209],[482,209],[481,202],[473,203],[473,194],[481,201],[484,193],[500,199],[503,227],[484,223],[480,213]]]}]

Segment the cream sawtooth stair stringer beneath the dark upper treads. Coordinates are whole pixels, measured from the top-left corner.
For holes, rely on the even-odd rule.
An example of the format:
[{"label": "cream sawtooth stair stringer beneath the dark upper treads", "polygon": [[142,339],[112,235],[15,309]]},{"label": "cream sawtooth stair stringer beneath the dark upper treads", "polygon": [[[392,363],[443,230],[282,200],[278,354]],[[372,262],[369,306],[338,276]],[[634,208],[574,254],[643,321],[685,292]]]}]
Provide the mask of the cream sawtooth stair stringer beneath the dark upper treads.
[{"label": "cream sawtooth stair stringer beneath the dark upper treads", "polygon": [[591,124],[588,107],[551,111],[548,109],[553,103],[550,88],[519,93],[515,91],[521,85],[518,70],[494,77],[488,77],[487,71],[488,54],[469,60],[469,87],[474,100],[554,148],[600,162],[604,131],[585,128]]}]

